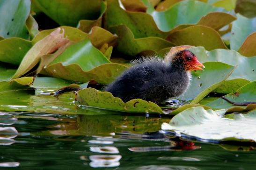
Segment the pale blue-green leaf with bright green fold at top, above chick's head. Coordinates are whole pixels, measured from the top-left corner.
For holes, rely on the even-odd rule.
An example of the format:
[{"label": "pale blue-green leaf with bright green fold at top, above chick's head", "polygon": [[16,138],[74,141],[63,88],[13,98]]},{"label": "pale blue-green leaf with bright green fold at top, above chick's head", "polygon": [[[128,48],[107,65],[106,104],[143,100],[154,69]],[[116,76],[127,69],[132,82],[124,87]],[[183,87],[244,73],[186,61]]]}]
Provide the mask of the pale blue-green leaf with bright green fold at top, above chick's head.
[{"label": "pale blue-green leaf with bright green fold at top, above chick's head", "polygon": [[196,24],[200,18],[210,12],[222,12],[223,8],[213,7],[197,0],[183,0],[167,11],[154,11],[151,15],[158,28],[170,31],[181,24]]}]

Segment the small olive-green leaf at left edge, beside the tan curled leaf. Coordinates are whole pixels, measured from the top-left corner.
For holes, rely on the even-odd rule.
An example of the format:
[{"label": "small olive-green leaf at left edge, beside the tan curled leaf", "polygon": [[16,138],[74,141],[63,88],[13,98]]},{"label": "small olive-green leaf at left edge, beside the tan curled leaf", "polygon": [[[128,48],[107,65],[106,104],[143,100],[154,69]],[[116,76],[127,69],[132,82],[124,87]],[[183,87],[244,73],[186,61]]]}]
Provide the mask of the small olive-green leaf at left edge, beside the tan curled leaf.
[{"label": "small olive-green leaf at left edge, beside the tan curled leaf", "polygon": [[21,38],[7,38],[0,41],[0,61],[19,65],[32,47],[30,41]]}]

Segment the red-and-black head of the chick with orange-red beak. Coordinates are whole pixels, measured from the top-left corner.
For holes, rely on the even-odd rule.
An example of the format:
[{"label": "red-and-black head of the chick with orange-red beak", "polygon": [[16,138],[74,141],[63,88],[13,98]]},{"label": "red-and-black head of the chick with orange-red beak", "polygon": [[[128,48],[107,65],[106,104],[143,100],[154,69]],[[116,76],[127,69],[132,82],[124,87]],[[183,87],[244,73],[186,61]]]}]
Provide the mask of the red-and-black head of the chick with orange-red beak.
[{"label": "red-and-black head of the chick with orange-red beak", "polygon": [[[189,46],[191,47],[191,46]],[[194,53],[192,53],[187,47],[176,47],[175,50],[170,50],[165,58],[165,62],[171,63],[175,67],[184,69],[185,71],[203,70],[205,66],[200,63]]]}]

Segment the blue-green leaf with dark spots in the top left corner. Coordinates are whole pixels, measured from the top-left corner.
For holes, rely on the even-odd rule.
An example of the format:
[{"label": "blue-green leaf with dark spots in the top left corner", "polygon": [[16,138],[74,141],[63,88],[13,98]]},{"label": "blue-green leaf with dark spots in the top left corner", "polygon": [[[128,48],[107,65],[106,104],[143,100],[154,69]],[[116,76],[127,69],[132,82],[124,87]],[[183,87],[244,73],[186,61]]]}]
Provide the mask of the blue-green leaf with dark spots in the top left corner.
[{"label": "blue-green leaf with dark spots in the top left corner", "polygon": [[0,36],[29,39],[26,20],[29,17],[30,0],[0,1]]}]

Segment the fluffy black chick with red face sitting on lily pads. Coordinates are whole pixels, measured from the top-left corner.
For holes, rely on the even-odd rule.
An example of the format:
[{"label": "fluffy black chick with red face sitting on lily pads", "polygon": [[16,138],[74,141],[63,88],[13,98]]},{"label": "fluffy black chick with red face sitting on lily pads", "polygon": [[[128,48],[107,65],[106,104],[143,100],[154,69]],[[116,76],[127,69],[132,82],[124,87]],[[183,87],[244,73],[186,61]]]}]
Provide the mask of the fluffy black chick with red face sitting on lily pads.
[{"label": "fluffy black chick with red face sitting on lily pads", "polygon": [[191,71],[205,68],[187,48],[172,48],[164,59],[156,56],[133,60],[132,66],[104,90],[124,102],[143,99],[158,105],[182,95],[190,85]]}]

